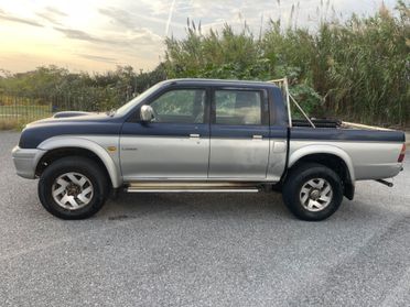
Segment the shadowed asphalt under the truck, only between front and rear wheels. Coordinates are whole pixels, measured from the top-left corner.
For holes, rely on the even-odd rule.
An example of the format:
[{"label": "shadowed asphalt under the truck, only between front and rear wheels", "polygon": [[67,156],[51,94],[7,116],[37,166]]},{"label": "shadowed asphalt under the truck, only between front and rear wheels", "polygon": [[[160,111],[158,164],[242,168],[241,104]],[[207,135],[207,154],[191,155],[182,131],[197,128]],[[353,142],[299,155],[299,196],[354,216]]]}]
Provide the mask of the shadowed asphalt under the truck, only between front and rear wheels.
[{"label": "shadowed asphalt under the truck, only between front and rear wheels", "polygon": [[293,219],[277,193],[239,194],[121,194],[107,201],[98,218],[125,220],[166,211],[168,216],[270,216]]}]

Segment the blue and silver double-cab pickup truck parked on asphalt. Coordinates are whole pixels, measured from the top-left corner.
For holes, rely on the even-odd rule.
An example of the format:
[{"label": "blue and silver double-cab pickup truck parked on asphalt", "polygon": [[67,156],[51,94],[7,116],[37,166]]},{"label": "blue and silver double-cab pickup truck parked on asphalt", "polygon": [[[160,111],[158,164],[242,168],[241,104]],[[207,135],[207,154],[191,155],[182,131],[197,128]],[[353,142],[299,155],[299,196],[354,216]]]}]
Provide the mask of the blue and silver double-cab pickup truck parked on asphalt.
[{"label": "blue and silver double-cab pickup truck parked on asphalt", "polygon": [[26,125],[18,175],[62,219],[95,215],[128,193],[282,191],[295,217],[323,220],[357,180],[399,174],[404,133],[293,121],[280,87],[173,79],[108,113],[61,112]]}]

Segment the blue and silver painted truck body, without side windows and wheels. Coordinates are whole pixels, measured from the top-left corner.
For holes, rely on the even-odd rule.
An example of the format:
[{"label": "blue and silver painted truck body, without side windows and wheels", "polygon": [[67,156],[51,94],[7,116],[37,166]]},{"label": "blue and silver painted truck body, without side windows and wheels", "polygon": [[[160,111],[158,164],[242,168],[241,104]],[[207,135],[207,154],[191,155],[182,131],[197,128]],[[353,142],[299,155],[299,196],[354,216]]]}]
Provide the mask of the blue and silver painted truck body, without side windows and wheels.
[{"label": "blue and silver painted truck body, without side windows and wheels", "polygon": [[[168,127],[130,120],[142,105],[179,88],[203,88],[207,95],[216,88],[258,90],[265,97],[267,121],[244,129],[218,125],[212,119]],[[338,158],[353,188],[356,180],[390,178],[402,169],[398,157],[403,133],[290,128],[285,103],[278,91],[266,83],[169,80],[114,116],[56,118],[30,124],[12,157],[18,175],[33,179],[46,167],[40,164],[46,164],[44,158],[53,151],[88,151],[104,164],[114,188],[136,182],[277,184],[289,168],[309,156]],[[206,100],[209,106],[212,95]],[[211,107],[205,110],[212,114]]]}]

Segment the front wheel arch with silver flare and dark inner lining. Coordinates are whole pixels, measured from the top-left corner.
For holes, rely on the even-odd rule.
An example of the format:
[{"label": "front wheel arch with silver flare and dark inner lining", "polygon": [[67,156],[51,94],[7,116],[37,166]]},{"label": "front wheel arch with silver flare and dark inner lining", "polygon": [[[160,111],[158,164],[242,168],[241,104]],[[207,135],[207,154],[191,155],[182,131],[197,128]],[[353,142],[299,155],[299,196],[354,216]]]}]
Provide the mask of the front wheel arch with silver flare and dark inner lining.
[{"label": "front wheel arch with silver flare and dark inner lining", "polygon": [[45,153],[35,165],[35,174],[40,175],[50,163],[64,156],[85,156],[99,164],[106,172],[114,188],[122,184],[119,166],[110,154],[96,142],[82,138],[51,138],[39,145]]}]

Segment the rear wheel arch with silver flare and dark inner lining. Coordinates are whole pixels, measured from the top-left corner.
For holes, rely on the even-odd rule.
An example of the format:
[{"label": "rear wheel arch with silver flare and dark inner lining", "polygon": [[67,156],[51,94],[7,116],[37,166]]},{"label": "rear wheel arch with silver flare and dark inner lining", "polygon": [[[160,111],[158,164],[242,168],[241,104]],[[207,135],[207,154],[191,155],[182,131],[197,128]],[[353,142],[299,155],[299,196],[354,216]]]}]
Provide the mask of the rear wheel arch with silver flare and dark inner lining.
[{"label": "rear wheel arch with silver flare and dark inner lining", "polygon": [[293,152],[289,157],[289,169],[309,162],[322,164],[341,177],[344,186],[344,195],[353,199],[355,194],[355,173],[352,158],[339,147],[330,145],[311,145]]}]

